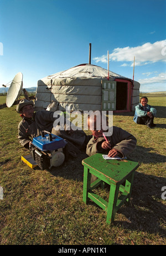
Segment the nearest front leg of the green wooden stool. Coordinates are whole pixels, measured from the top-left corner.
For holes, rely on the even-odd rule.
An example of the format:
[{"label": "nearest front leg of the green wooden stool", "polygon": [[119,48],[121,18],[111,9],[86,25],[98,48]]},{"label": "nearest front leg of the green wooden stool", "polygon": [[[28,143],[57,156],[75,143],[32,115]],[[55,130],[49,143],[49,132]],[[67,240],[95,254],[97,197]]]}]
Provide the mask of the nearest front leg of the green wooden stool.
[{"label": "nearest front leg of the green wooden stool", "polygon": [[109,196],[109,201],[108,201],[107,219],[106,219],[106,222],[108,224],[113,222],[113,220],[115,218],[115,213],[117,211],[116,204],[117,204],[119,187],[120,187],[120,185],[115,185],[115,184],[111,184],[111,186],[110,186],[110,196]]}]

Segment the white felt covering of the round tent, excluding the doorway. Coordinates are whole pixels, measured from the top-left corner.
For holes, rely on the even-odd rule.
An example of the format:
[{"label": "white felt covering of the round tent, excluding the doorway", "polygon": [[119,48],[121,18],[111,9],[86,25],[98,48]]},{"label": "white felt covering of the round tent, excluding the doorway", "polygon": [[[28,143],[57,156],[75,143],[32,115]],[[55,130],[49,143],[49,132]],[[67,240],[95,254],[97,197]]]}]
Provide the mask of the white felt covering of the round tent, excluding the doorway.
[{"label": "white felt covering of the round tent, excluding the doorway", "polygon": [[[101,80],[107,80],[107,77],[108,70],[92,64],[81,64],[46,76],[38,81],[35,110],[46,109],[52,102],[59,105],[59,110],[65,110],[66,106],[70,106],[70,110],[101,110]],[[113,81],[115,78],[127,79],[109,71],[109,80]],[[133,96],[138,94],[139,97],[139,86],[134,81]],[[139,103],[139,99],[136,101]]]}]

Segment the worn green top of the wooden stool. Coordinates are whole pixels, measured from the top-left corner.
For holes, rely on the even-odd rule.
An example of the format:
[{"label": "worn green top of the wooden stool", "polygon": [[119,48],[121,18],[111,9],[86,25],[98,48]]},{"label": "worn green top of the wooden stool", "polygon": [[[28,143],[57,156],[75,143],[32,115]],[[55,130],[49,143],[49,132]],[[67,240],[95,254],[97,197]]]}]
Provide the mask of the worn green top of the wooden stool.
[{"label": "worn green top of the wooden stool", "polygon": [[115,183],[123,180],[129,173],[136,170],[139,166],[138,162],[129,160],[105,160],[102,153],[96,153],[93,156],[82,160],[82,165],[90,169],[90,172],[95,175],[100,175],[106,180],[112,180]]}]

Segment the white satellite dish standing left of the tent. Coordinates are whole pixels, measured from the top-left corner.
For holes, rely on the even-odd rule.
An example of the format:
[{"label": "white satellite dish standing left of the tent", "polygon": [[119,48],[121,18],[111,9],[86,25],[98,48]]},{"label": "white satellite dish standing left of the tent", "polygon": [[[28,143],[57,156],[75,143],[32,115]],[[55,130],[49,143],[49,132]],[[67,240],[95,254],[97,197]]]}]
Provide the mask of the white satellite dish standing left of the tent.
[{"label": "white satellite dish standing left of the tent", "polygon": [[18,99],[23,88],[23,74],[19,72],[14,76],[14,79],[9,87],[7,96],[6,96],[6,105],[11,107],[14,104],[14,101]]}]

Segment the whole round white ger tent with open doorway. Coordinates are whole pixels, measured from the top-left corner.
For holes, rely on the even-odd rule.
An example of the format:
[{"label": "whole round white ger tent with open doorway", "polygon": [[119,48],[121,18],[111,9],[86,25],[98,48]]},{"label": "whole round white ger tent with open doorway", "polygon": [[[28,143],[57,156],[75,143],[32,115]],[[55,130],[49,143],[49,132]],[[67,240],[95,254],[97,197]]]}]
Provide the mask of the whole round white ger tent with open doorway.
[{"label": "whole round white ger tent with open doorway", "polygon": [[134,111],[139,103],[137,81],[92,64],[81,64],[38,80],[35,111],[55,103],[56,109]]}]

